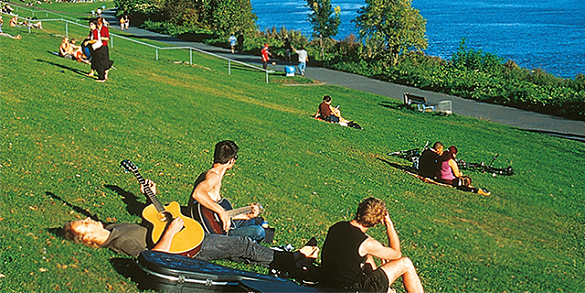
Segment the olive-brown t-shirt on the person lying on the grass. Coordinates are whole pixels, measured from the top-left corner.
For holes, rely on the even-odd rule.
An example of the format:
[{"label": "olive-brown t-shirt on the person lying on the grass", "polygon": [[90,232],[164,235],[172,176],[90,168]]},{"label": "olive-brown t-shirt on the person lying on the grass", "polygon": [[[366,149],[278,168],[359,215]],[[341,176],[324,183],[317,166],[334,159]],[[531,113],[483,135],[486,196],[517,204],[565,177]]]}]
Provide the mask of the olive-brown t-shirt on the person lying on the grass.
[{"label": "olive-brown t-shirt on the person lying on the grass", "polygon": [[104,228],[110,231],[110,237],[106,239],[102,247],[134,257],[138,257],[141,252],[149,249],[146,243],[148,230],[145,227],[133,223],[122,223],[110,224]]}]

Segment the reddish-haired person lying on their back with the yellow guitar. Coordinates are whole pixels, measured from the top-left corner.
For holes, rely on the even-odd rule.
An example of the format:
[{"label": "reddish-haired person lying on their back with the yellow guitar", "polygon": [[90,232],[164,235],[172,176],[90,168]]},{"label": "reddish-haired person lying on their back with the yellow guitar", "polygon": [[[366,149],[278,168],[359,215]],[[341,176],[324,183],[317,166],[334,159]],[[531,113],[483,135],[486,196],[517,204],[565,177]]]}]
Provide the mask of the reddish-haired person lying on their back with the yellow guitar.
[{"label": "reddish-haired person lying on their back with the yellow guitar", "polygon": [[[116,253],[138,257],[142,251],[156,250],[169,252],[173,237],[181,231],[184,220],[175,218],[154,245],[147,244],[148,230],[134,223],[104,225],[91,218],[68,222],[63,228],[64,237],[92,248],[109,248]],[[248,237],[233,237],[220,234],[206,234],[201,249],[194,258],[212,260],[231,260],[270,267],[289,276],[302,273],[302,268],[315,261],[318,254],[316,246],[304,246],[296,252],[275,251],[262,246]]]}]

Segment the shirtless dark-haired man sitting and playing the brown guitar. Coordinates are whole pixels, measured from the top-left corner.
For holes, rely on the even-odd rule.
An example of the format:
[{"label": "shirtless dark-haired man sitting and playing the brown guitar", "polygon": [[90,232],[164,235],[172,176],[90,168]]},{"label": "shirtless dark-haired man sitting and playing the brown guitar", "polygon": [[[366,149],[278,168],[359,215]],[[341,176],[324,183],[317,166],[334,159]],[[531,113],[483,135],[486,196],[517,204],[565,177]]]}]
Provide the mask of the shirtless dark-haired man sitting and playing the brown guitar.
[{"label": "shirtless dark-haired man sitting and playing the brown guitar", "polygon": [[[238,146],[233,141],[225,140],[215,145],[213,166],[199,175],[195,181],[193,192],[189,198],[189,209],[192,217],[202,222],[208,233],[247,236],[253,240],[261,241],[265,237],[265,231],[256,221],[256,217],[260,214],[260,208],[250,206],[248,213],[230,217],[220,194],[221,180],[225,172],[234,166],[237,158]],[[229,206],[229,202],[227,204]],[[231,206],[228,209],[231,209]],[[216,231],[212,231],[213,229],[208,228],[208,225],[205,224],[205,218],[209,218],[205,216],[205,212],[202,212],[205,210],[214,214],[215,220],[209,220],[217,222],[219,225]]]}]

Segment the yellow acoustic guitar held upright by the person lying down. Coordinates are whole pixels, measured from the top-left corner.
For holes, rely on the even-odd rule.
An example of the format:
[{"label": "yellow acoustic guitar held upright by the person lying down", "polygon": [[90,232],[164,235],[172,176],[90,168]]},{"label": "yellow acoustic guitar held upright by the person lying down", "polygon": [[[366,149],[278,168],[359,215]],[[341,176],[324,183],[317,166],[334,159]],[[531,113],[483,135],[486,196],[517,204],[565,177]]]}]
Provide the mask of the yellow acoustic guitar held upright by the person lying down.
[{"label": "yellow acoustic guitar held upright by the person lying down", "polygon": [[185,217],[181,214],[181,206],[176,201],[163,207],[152,189],[146,184],[146,180],[140,175],[140,172],[138,172],[138,167],[136,167],[134,163],[129,160],[124,160],[121,162],[121,165],[127,171],[134,174],[138,183],[142,185],[144,192],[152,202],[152,204],[142,210],[142,217],[152,224],[152,242],[157,243],[166,230],[167,225],[174,218],[179,217],[183,219],[185,225],[183,229],[173,237],[169,252],[182,254],[188,257],[196,255],[201,248],[201,242],[203,242],[203,237],[205,235],[201,224],[192,218]]}]

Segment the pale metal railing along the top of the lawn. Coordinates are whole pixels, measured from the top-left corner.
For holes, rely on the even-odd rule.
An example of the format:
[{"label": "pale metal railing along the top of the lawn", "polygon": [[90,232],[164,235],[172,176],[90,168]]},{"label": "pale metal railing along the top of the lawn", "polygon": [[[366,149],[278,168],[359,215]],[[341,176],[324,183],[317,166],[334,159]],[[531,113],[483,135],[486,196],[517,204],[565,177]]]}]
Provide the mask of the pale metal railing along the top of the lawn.
[{"label": "pale metal railing along the top of the lawn", "polygon": [[[2,5],[4,5],[5,3],[7,3],[7,2],[0,1],[0,4],[2,4]],[[73,25],[76,25],[76,26],[80,26],[80,27],[89,29],[89,26],[80,24],[79,23],[79,21],[80,21],[79,19],[74,19],[74,21],[71,21],[69,19],[66,19],[63,15],[60,15],[58,13],[54,13],[54,12],[51,12],[51,11],[47,11],[47,10],[31,10],[31,9],[27,9],[27,8],[19,7],[19,6],[14,6],[14,7],[16,7],[15,11],[18,11],[17,10],[18,8],[25,9],[25,10],[31,11],[33,13],[33,15],[34,15],[34,12],[36,11],[37,13],[39,13],[39,12],[46,12],[47,13],[46,14],[47,16],[48,16],[48,13],[52,13],[52,14],[61,16],[61,18],[57,18],[57,19],[35,19],[34,21],[35,22],[38,22],[38,21],[41,21],[41,22],[63,21],[63,22],[65,22],[65,36],[66,37],[69,37],[69,24],[73,24]],[[26,18],[26,17],[21,17],[21,16],[18,16],[18,15],[14,15],[14,14],[7,14],[7,13],[4,13],[4,12],[1,12],[0,14],[9,15],[11,17],[15,17],[16,16],[19,19],[24,19],[25,21],[28,22],[28,25],[27,25],[28,32],[31,33],[31,26],[32,26],[32,21],[33,21],[32,20],[32,17],[31,18]],[[227,57],[224,57],[224,56],[221,56],[221,55],[217,55],[217,54],[214,54],[214,53],[210,53],[210,52],[207,52],[207,51],[202,50],[202,49],[198,49],[198,48],[194,48],[194,47],[175,47],[175,46],[172,46],[172,47],[159,47],[159,46],[156,46],[156,45],[152,45],[152,44],[148,44],[148,43],[145,43],[145,42],[137,41],[137,40],[134,40],[134,39],[129,38],[129,37],[126,37],[126,36],[122,36],[122,35],[118,35],[118,34],[113,34],[110,31],[110,41],[108,43],[109,43],[109,46],[111,48],[114,48],[114,37],[120,38],[120,39],[123,39],[123,40],[127,40],[127,41],[130,41],[130,42],[134,42],[136,44],[140,44],[140,45],[143,45],[143,46],[147,46],[147,47],[154,48],[155,49],[155,60],[157,60],[157,61],[159,59],[158,58],[159,57],[158,56],[159,55],[159,50],[185,50],[185,49],[188,49],[189,50],[189,65],[192,65],[193,64],[193,51],[196,51],[196,52],[199,52],[199,53],[202,53],[202,54],[206,54],[206,55],[209,55],[209,56],[213,56],[215,58],[219,58],[219,59],[226,60],[227,63],[228,63],[228,75],[231,75],[232,74],[232,68],[231,68],[232,67],[232,63],[239,64],[239,65],[244,66],[244,67],[248,67],[248,68],[251,68],[251,69],[254,69],[254,70],[258,70],[258,71],[264,72],[265,75],[266,75],[266,83],[268,83],[268,74],[274,72],[274,70],[267,70],[267,69],[259,68],[259,67],[256,67],[254,65],[251,65],[251,64],[248,64],[248,63],[245,63],[245,62],[241,62],[241,61],[238,61],[238,60],[230,59],[230,58],[227,58]]]}]

